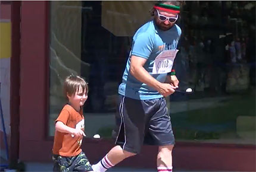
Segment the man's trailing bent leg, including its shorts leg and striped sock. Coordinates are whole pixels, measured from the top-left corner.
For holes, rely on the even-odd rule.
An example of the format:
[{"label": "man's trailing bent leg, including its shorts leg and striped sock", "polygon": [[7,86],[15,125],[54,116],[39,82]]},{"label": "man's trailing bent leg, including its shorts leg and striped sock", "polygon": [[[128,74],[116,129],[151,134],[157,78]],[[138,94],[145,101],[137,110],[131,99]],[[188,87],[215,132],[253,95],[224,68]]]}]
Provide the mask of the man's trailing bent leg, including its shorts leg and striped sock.
[{"label": "man's trailing bent leg, including its shorts leg and striped sock", "polygon": [[[93,171],[104,172],[125,158],[138,154],[144,141],[145,112],[141,100],[120,96],[115,114],[115,144],[99,163],[92,165]],[[125,150],[124,150],[125,149]]]}]

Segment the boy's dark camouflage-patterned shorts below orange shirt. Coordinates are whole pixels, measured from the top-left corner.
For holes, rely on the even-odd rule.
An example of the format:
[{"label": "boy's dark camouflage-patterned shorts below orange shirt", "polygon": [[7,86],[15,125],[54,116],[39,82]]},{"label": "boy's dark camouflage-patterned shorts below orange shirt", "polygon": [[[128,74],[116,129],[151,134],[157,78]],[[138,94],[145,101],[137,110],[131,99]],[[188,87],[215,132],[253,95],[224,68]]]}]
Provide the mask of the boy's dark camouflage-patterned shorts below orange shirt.
[{"label": "boy's dark camouflage-patterned shorts below orange shirt", "polygon": [[93,171],[85,153],[81,152],[75,157],[53,155],[54,171]]}]

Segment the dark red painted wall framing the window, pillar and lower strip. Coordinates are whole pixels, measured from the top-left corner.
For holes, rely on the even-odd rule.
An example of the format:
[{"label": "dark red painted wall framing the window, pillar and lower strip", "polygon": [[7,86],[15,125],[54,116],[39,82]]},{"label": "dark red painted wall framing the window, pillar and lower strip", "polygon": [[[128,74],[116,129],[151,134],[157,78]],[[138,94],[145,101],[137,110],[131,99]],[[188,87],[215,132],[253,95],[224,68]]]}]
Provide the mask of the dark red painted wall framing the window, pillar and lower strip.
[{"label": "dark red painted wall framing the window, pillar and lower strip", "polygon": [[[20,160],[50,162],[52,138],[46,136],[49,87],[48,2],[23,1],[21,8]],[[112,141],[86,138],[83,150],[91,163],[100,160]],[[255,146],[177,143],[174,167],[193,170],[256,171]],[[155,167],[157,148],[144,146],[142,154],[118,166]]]}]

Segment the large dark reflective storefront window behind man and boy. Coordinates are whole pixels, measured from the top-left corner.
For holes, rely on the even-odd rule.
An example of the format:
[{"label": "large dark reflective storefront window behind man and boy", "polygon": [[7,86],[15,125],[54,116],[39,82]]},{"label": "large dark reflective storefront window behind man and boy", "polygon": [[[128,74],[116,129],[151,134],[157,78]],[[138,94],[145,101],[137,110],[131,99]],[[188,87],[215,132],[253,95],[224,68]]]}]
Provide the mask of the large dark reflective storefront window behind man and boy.
[{"label": "large dark reflective storefront window behind man and boy", "polygon": [[[89,82],[88,136],[111,138],[117,89],[132,36],[154,1],[51,1],[49,135],[68,75]],[[218,12],[216,12],[218,11]],[[186,1],[175,61],[180,88],[167,98],[177,141],[255,144],[255,2]]]}]

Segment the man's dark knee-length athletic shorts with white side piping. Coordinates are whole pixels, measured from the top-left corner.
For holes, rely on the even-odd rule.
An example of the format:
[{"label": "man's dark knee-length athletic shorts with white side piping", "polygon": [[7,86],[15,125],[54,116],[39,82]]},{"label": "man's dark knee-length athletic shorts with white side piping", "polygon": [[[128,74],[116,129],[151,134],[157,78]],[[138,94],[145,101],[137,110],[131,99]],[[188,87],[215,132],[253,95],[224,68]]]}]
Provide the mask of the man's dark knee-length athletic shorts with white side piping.
[{"label": "man's dark knee-length athletic shorts with white side piping", "polygon": [[119,96],[116,127],[113,132],[115,144],[124,150],[138,154],[143,144],[174,145],[171,120],[166,99],[136,100]]}]

